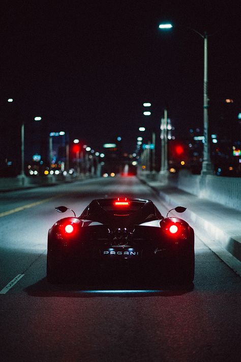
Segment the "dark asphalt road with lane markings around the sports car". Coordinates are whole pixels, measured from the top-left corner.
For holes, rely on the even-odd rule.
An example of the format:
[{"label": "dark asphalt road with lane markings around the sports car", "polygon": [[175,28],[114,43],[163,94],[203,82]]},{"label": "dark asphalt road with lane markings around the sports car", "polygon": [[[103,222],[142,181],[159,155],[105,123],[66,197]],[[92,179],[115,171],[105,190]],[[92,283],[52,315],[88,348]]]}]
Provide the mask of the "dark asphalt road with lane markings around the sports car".
[{"label": "dark asphalt road with lane markings around the sports car", "polygon": [[168,211],[135,177],[0,194],[1,360],[240,361],[240,278],[198,238],[189,288],[113,275],[84,289],[47,283],[54,207],[80,214],[92,199],[124,194]]}]

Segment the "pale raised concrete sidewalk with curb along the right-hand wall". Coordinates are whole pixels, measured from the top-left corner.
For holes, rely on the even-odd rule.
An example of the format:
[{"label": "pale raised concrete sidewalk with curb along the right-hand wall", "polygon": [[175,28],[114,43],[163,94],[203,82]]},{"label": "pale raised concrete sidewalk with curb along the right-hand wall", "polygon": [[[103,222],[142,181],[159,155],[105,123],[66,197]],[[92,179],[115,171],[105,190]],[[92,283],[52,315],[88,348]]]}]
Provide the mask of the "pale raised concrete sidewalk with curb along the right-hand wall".
[{"label": "pale raised concrete sidewalk with curb along the right-hand wall", "polygon": [[196,236],[241,276],[240,211],[200,199],[160,181],[139,179],[159,194],[167,208],[186,207],[184,219],[194,228]]}]

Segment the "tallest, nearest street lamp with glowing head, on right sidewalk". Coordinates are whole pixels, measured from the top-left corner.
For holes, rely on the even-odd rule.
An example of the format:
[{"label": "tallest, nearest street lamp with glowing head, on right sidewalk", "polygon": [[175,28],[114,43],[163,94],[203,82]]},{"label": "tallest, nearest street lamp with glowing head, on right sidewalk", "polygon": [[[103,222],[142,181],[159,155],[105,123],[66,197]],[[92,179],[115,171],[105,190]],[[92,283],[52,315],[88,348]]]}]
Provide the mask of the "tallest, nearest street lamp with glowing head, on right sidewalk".
[{"label": "tallest, nearest street lamp with glowing head, on right sidewalk", "polygon": [[[160,24],[159,29],[171,29],[171,24]],[[210,160],[210,147],[208,142],[208,96],[207,96],[207,33],[200,34],[195,29],[190,28],[192,31],[200,35],[203,39],[203,133],[204,133],[204,146],[203,146],[203,161],[202,161],[202,175],[213,174],[213,165]]]}]

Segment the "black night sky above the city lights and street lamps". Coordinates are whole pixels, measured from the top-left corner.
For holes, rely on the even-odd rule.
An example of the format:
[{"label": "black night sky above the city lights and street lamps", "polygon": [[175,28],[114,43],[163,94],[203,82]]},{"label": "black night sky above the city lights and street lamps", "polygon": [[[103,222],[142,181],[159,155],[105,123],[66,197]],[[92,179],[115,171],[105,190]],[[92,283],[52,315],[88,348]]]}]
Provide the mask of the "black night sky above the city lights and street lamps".
[{"label": "black night sky above the city lights and street lamps", "polygon": [[[185,136],[203,117],[203,40],[188,28],[210,34],[210,102],[232,98],[241,112],[240,4],[2,1],[1,122],[39,115],[42,127],[69,131],[70,141],[98,149],[120,135],[134,151],[138,127],[159,126],[167,104]],[[160,31],[163,21],[173,29]],[[150,118],[142,116],[145,101]]]}]

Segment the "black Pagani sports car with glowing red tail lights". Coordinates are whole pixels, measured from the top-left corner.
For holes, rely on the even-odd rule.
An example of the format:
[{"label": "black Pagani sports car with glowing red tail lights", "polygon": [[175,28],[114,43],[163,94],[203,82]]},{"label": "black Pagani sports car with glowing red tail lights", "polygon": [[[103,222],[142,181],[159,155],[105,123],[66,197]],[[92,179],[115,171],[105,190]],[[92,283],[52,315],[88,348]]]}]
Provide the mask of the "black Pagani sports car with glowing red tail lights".
[{"label": "black Pagani sports car with glowing red tail lights", "polygon": [[[56,210],[73,211],[65,206]],[[74,212],[74,217],[58,220],[49,230],[48,281],[62,281],[71,274],[83,278],[86,270],[124,267],[151,269],[156,276],[166,273],[191,283],[194,231],[183,219],[168,217],[169,212],[164,217],[150,200],[93,200],[80,216]]]}]

